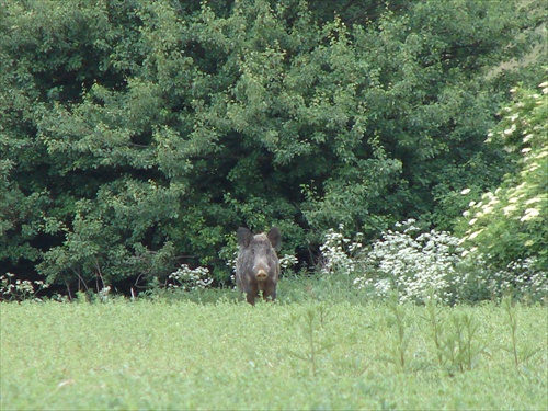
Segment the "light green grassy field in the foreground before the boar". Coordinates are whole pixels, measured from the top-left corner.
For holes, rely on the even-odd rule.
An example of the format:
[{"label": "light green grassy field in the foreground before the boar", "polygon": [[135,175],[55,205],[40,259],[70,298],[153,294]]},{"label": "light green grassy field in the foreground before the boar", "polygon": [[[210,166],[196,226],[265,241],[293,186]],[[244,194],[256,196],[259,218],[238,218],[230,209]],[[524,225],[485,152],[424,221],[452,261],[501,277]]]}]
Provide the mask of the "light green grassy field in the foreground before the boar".
[{"label": "light green grassy field in the foreground before the boar", "polygon": [[2,410],[548,409],[541,306],[513,307],[514,328],[494,304],[0,310]]}]

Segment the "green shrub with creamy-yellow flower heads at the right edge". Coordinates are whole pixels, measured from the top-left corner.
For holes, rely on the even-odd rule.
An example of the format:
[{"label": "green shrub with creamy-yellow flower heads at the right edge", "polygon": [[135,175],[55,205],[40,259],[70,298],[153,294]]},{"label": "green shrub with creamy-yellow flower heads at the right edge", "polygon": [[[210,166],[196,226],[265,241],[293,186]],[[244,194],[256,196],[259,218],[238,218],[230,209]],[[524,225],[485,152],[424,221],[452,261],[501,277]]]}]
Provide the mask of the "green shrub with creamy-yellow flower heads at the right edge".
[{"label": "green shrub with creamy-yellow flower heads at the right edge", "polygon": [[465,212],[464,240],[499,269],[525,259],[548,267],[548,81],[539,89],[513,89],[515,102],[489,137],[518,153],[517,173]]}]

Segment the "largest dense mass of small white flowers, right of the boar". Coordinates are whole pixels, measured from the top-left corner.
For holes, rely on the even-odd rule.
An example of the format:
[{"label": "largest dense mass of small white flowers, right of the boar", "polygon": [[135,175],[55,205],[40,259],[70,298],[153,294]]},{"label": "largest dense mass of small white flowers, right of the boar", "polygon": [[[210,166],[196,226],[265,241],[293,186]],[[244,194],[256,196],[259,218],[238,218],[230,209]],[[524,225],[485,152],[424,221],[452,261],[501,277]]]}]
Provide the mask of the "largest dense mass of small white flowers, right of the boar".
[{"label": "largest dense mass of small white flowers, right of the boar", "polygon": [[[415,220],[397,224],[401,231],[387,231],[364,260],[365,275],[354,285],[384,297],[397,290],[400,301],[424,301],[431,293],[439,300],[455,298],[453,282],[460,261],[459,239],[448,232],[416,233]],[[415,235],[413,235],[415,233]]]}]

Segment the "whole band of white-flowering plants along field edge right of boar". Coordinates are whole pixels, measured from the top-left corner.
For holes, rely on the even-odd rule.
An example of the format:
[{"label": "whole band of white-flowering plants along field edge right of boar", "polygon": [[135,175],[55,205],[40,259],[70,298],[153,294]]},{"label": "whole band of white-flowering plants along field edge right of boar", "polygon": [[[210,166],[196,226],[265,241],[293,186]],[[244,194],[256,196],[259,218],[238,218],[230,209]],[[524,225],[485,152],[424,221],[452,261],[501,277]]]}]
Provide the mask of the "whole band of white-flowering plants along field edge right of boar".
[{"label": "whole band of white-flowering plants along field edge right of boar", "polygon": [[328,231],[320,247],[321,273],[354,276],[354,286],[375,297],[396,292],[400,302],[433,297],[455,304],[507,294],[537,300],[548,295],[547,273],[537,269],[535,259],[493,270],[482,254],[466,253],[459,238],[446,231],[421,232],[414,224],[413,219],[398,222],[368,251],[359,241]]}]

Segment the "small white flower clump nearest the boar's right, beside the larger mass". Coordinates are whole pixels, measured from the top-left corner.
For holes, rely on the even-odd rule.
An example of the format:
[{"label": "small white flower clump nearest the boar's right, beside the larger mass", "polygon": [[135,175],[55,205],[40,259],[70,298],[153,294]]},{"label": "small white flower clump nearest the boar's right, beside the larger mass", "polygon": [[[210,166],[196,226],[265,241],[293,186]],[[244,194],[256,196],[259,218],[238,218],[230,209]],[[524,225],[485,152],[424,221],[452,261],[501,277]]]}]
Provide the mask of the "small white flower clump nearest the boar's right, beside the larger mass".
[{"label": "small white flower clump nearest the boar's right, beside the larger mass", "polygon": [[[339,226],[339,229],[343,231],[344,227]],[[328,230],[324,236],[324,242],[320,246],[321,273],[354,274],[363,249],[362,238],[363,235],[361,232],[356,233],[354,240],[351,240],[333,229]]]}]

